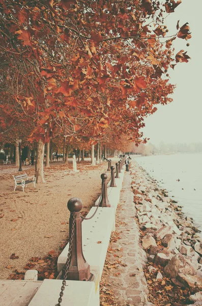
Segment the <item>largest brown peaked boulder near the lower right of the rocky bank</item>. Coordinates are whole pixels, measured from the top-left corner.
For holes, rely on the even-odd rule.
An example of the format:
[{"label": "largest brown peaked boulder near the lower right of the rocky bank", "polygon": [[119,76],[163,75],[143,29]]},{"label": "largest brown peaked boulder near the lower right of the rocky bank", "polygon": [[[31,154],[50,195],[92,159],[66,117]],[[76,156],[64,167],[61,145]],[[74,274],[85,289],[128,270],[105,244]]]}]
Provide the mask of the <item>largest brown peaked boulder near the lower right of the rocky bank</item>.
[{"label": "largest brown peaked boulder near the lower right of the rocky bank", "polygon": [[196,275],[196,270],[182,254],[174,255],[165,266],[164,272],[170,278],[176,278],[179,273]]}]

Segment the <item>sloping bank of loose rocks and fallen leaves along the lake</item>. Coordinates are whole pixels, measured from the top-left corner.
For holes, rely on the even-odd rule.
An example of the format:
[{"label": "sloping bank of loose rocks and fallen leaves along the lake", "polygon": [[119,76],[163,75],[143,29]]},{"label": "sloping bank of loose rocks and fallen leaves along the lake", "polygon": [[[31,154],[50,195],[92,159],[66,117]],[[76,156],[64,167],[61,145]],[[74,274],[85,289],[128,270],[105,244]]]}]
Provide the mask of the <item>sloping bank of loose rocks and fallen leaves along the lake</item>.
[{"label": "sloping bank of loose rocks and fallen leaves along the lake", "polygon": [[130,170],[141,243],[148,257],[150,301],[202,305],[202,239],[197,227],[136,162]]}]

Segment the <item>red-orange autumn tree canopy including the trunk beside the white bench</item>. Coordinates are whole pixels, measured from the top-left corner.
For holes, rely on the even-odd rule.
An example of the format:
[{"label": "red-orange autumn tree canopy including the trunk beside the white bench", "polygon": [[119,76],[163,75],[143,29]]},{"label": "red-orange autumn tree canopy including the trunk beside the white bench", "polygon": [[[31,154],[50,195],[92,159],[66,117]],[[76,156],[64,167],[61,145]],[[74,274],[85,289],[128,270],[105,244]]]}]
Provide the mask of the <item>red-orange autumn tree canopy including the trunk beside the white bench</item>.
[{"label": "red-orange autumn tree canopy including the trunk beside the white bench", "polygon": [[50,139],[141,142],[144,118],[172,100],[168,69],[189,59],[172,48],[191,38],[188,24],[168,37],[163,24],[180,3],[0,0],[0,140],[37,142],[37,182]]}]

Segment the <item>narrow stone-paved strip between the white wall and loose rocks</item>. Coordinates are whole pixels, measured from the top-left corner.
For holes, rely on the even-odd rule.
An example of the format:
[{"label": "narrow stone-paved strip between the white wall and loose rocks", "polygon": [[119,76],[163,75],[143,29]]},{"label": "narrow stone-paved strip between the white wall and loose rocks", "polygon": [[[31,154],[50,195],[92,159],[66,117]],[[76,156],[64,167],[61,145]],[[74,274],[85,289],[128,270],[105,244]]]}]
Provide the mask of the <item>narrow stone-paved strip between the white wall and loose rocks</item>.
[{"label": "narrow stone-paved strip between the white wall and loose rocks", "polygon": [[114,273],[107,273],[107,279],[120,306],[152,305],[147,299],[149,291],[143,273],[147,256],[139,243],[139,228],[135,217],[131,176],[129,172],[126,172],[116,214],[116,230],[120,239],[110,243],[109,250],[112,249],[112,253],[109,252],[107,257],[108,262],[117,263],[116,270],[113,270]]}]

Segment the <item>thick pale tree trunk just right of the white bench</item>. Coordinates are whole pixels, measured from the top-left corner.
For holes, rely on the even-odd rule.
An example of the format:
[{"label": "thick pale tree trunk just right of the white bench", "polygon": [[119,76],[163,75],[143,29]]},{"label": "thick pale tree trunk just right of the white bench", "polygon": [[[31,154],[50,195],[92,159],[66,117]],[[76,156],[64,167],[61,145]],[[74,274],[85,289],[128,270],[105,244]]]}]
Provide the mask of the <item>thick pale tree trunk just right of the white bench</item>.
[{"label": "thick pale tree trunk just right of the white bench", "polygon": [[35,176],[37,183],[45,183],[43,176],[43,159],[44,159],[44,143],[40,139],[37,143],[37,158],[35,167]]}]

